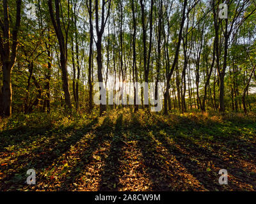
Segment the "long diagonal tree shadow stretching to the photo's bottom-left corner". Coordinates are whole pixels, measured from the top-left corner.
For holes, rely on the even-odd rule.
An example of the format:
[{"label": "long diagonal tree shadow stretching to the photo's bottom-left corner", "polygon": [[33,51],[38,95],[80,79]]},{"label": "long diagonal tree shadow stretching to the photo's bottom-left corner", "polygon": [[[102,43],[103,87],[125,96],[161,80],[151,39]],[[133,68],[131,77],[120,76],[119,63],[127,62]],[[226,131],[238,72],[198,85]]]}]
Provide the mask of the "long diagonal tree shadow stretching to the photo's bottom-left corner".
[{"label": "long diagonal tree shadow stretching to the photo's bottom-left corner", "polygon": [[8,172],[10,169],[15,171],[8,174],[4,180],[1,180],[1,188],[8,189],[10,186],[14,187],[24,185],[27,170],[35,169],[38,171],[50,166],[54,163],[54,160],[61,156],[61,154],[67,152],[71,145],[77,143],[86,133],[88,133],[96,122],[97,119],[92,120],[92,122],[83,128],[75,130],[68,138],[67,134],[70,134],[72,129],[67,128],[68,131],[63,131],[61,135],[51,138],[47,142],[43,143],[42,147],[36,147],[36,149],[29,152],[29,155],[25,154],[18,156],[13,164],[3,167],[4,172]]}]

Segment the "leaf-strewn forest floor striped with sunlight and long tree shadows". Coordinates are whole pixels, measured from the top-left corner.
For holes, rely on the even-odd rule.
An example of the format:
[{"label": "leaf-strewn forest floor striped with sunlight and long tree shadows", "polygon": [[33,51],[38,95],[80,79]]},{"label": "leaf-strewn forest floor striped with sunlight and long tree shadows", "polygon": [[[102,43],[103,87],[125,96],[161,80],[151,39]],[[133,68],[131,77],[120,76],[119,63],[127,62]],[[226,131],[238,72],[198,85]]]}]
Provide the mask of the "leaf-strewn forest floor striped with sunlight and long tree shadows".
[{"label": "leaf-strewn forest floor striped with sunlight and long tree shadows", "polygon": [[256,191],[255,113],[32,113],[0,135],[1,191]]}]

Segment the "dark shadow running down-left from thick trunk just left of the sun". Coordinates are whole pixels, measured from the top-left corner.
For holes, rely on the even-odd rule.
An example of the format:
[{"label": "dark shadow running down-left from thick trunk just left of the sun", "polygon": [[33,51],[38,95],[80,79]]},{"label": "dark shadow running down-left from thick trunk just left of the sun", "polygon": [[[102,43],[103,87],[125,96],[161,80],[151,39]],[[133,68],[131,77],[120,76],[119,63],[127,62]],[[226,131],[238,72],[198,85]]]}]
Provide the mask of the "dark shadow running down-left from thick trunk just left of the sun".
[{"label": "dark shadow running down-left from thick trunk just left of the sun", "polygon": [[[66,152],[67,154],[65,155],[65,157],[69,158],[68,163],[72,163],[71,157],[79,158],[79,160],[77,160],[75,163],[72,163],[71,168],[67,168],[68,171],[67,173],[65,173],[65,176],[63,178],[65,180],[64,182],[61,182],[60,186],[58,187],[54,186],[54,180],[42,178],[40,182],[42,184],[48,184],[47,190],[51,190],[53,188],[52,190],[55,191],[72,191],[73,189],[76,189],[76,186],[74,185],[81,183],[81,180],[79,179],[81,179],[83,171],[86,170],[87,166],[89,166],[90,163],[95,162],[95,159],[93,158],[93,152],[95,152],[95,150],[98,150],[104,144],[104,142],[111,140],[109,133],[111,133],[113,129],[112,126],[113,122],[109,120],[108,117],[105,117],[102,124],[93,129],[90,135],[88,135],[86,138],[81,138],[79,143],[76,143],[74,149],[77,149],[78,151],[72,152],[72,150],[70,150]],[[60,161],[56,161],[55,169],[62,168],[63,162],[63,159],[60,159]],[[86,184],[86,182],[84,182],[84,184]]]}]

